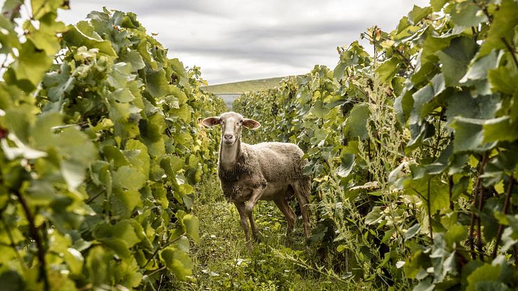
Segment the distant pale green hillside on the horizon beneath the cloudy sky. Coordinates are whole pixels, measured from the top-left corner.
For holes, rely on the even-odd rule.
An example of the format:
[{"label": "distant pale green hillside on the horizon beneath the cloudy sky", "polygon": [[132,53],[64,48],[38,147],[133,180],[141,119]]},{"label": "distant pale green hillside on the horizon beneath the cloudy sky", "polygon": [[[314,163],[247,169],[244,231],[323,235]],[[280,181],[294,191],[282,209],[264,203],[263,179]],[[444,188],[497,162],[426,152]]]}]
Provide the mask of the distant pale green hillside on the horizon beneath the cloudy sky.
[{"label": "distant pale green hillside on the horizon beneath the cloudy sky", "polygon": [[241,82],[231,82],[226,84],[219,85],[210,85],[206,87],[201,87],[203,91],[207,91],[214,94],[224,94],[224,93],[244,93],[249,91],[260,91],[265,89],[273,89],[278,87],[278,83],[281,82],[285,77],[278,78],[267,78],[267,79],[258,79],[258,80],[247,80]]}]

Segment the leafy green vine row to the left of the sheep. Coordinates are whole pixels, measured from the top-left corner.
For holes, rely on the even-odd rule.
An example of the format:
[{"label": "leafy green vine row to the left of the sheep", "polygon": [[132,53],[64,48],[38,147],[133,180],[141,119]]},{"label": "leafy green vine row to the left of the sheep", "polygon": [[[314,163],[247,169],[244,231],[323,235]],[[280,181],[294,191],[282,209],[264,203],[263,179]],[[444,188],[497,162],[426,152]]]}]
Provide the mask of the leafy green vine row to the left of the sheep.
[{"label": "leafy green vine row to the left of the sheep", "polygon": [[187,279],[194,186],[219,139],[197,121],[225,105],[133,13],[65,26],[67,3],[8,0],[0,16],[0,285]]}]

